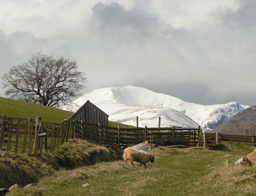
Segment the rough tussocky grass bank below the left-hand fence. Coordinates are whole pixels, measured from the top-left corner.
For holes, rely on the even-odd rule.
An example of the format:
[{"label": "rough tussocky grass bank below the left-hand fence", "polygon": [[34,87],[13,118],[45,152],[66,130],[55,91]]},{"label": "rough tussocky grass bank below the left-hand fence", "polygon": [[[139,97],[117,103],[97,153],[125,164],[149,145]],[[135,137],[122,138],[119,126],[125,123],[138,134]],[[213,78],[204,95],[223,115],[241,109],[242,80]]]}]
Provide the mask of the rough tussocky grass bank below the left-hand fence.
[{"label": "rough tussocky grass bank below the left-hand fence", "polygon": [[110,151],[87,140],[69,140],[54,153],[43,153],[42,157],[0,151],[0,188],[15,183],[25,186],[60,168],[73,169],[107,160],[113,160]]}]

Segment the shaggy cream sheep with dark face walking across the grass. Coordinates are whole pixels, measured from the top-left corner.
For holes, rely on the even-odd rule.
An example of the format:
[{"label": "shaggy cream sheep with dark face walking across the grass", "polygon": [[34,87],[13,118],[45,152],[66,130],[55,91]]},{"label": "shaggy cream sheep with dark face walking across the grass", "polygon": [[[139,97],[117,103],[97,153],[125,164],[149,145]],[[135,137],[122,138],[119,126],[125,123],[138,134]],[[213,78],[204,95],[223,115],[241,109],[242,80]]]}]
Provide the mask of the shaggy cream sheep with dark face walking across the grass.
[{"label": "shaggy cream sheep with dark face walking across the grass", "polygon": [[136,161],[140,163],[140,166],[143,164],[146,167],[147,162],[155,162],[154,155],[145,152],[144,150],[136,150],[134,148],[128,147],[124,149],[124,160],[127,163],[127,160],[130,160],[132,166],[134,166],[133,162]]}]

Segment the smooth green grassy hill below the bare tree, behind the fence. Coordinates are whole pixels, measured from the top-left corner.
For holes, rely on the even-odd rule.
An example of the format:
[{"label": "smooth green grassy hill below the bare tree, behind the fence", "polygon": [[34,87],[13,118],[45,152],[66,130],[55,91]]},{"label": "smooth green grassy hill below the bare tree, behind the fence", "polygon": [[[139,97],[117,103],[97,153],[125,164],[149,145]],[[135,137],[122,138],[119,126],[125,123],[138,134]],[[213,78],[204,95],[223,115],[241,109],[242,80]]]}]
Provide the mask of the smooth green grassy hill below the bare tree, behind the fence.
[{"label": "smooth green grassy hill below the bare tree, behind the fence", "polygon": [[[29,102],[0,97],[0,115],[3,114],[17,118],[32,119],[36,119],[36,116],[42,116],[42,120],[44,122],[60,123],[62,120],[70,118],[70,116],[72,116],[72,114],[74,113],[65,110],[60,110],[58,108],[52,108],[48,106],[42,106],[38,104],[32,104]],[[111,121],[109,122],[109,126],[134,128],[134,126]]]}]

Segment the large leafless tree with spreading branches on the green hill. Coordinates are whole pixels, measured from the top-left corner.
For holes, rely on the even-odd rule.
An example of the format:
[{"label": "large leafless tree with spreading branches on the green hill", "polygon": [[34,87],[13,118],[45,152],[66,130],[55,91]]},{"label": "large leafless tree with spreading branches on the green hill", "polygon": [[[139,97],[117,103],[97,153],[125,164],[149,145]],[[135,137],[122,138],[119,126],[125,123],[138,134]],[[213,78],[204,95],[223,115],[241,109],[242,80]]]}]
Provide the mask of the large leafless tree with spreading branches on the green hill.
[{"label": "large leafless tree with spreading branches on the green hill", "polygon": [[86,74],[77,68],[75,60],[37,52],[27,62],[4,73],[2,86],[10,98],[59,107],[79,96],[80,90],[86,87]]}]

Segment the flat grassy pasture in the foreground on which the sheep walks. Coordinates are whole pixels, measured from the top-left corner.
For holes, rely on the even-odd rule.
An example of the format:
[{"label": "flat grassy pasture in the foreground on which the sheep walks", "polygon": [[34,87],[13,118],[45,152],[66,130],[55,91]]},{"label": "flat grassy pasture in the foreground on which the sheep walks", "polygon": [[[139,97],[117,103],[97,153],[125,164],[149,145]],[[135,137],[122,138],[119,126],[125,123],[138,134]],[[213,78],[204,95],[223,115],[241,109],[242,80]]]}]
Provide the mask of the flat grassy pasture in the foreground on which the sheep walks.
[{"label": "flat grassy pasture in the foreground on which the sheep walks", "polygon": [[[122,160],[102,162],[60,170],[30,190],[7,195],[254,195],[256,183],[241,180],[256,168],[234,166],[252,150],[236,143],[212,149],[158,147],[152,150],[156,162],[147,169]],[[224,168],[226,160],[232,165]]]}]

